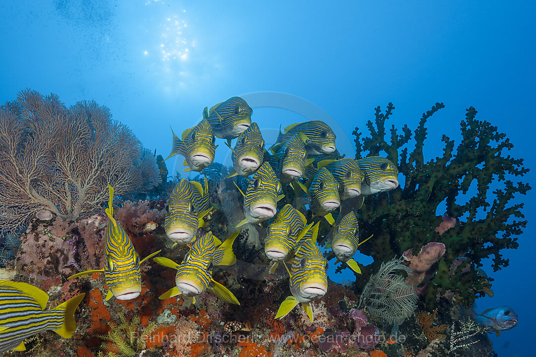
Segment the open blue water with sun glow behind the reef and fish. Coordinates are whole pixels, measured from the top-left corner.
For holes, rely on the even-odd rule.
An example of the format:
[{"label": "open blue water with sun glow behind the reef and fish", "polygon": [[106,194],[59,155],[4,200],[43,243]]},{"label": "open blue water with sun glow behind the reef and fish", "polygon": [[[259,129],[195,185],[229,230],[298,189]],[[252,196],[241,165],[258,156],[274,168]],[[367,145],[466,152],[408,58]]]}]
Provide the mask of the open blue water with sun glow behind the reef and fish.
[{"label": "open blue water with sun glow behind the reef and fish", "polygon": [[[368,134],[378,105],[396,107],[387,131],[405,124],[414,130],[422,113],[441,102],[445,108],[426,123],[425,162],[443,154],[443,134],[457,147],[459,123],[474,107],[477,119],[513,143],[503,156],[523,158],[532,169],[535,7],[492,1],[3,1],[0,102],[25,88],[57,94],[67,105],[94,100],[164,157],[172,149],[170,126],[179,134],[203,118],[203,108],[232,96],[254,109],[267,147],[280,125],[328,118],[347,157],[355,154],[354,128]],[[288,96],[274,100],[274,93]],[[303,109],[300,98],[315,110]],[[304,118],[300,111],[325,116]],[[232,165],[224,140],[218,143],[215,161]],[[166,161],[170,175],[188,177],[177,157]],[[510,179],[532,184],[533,177],[530,171]],[[475,192],[471,186],[467,198]],[[501,357],[533,354],[533,191],[517,195],[513,203],[520,202],[525,218],[515,219],[527,224],[519,248],[501,251],[509,259],[501,270],[483,261],[494,294],[473,307],[508,305],[519,316],[514,329],[488,334]],[[356,261],[372,259],[357,255]],[[355,279],[349,269],[334,270],[328,276],[335,282]],[[363,274],[362,285],[368,277]]]}]

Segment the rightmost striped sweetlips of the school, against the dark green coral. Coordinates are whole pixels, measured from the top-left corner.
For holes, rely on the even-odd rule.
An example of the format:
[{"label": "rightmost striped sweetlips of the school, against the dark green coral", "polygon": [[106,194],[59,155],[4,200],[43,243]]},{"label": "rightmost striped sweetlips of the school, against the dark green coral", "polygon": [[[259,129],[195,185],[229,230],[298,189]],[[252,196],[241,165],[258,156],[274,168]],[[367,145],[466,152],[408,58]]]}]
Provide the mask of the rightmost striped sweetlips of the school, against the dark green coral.
[{"label": "rightmost striped sweetlips of the school, against the dark green coral", "polygon": [[398,187],[398,169],[389,159],[369,156],[356,162],[364,174],[362,195],[374,195]]}]

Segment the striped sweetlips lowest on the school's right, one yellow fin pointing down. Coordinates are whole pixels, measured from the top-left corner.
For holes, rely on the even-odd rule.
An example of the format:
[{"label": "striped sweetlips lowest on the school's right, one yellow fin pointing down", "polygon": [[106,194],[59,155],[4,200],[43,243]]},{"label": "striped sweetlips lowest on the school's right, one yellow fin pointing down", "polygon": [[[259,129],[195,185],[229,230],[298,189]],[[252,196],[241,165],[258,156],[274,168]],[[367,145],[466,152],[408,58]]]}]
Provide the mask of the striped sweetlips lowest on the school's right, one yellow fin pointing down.
[{"label": "striped sweetlips lowest on the school's right, one yellow fin pointing down", "polygon": [[[333,238],[331,240],[331,250],[337,257],[338,261],[346,262],[348,266],[358,274],[361,274],[361,268],[355,262],[353,256],[357,252],[360,244],[363,244],[371,237],[359,241],[359,223],[354,211],[348,212],[333,229]],[[329,246],[325,246],[329,248]]]}]

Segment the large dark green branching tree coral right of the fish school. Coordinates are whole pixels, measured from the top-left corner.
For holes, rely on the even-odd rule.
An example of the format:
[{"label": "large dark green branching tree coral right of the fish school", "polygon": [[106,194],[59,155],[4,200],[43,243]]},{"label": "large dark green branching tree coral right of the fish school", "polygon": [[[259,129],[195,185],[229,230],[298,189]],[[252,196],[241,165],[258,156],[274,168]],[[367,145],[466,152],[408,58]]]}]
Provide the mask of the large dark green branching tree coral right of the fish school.
[{"label": "large dark green branching tree coral right of the fish school", "polygon": [[[426,302],[430,310],[434,308],[438,288],[452,290],[465,305],[471,305],[482,295],[490,287],[489,281],[474,269],[482,266],[482,259],[493,257],[495,271],[507,267],[508,259],[503,258],[501,250],[517,248],[515,236],[521,234],[526,225],[526,221],[515,220],[524,217],[523,203],[511,201],[530,189],[528,184],[515,184],[510,180],[513,176],[523,176],[528,169],[523,167],[523,159],[505,156],[504,151],[513,147],[509,139],[487,121],[475,119],[477,111],[472,107],[461,121],[463,139],[456,150],[454,140],[443,135],[443,155],[425,162],[426,122],[442,108],[443,103],[436,103],[422,115],[413,132],[404,125],[403,133],[399,134],[392,125],[390,138],[386,139],[385,122],[394,109],[389,103],[385,113],[376,108],[374,123],[368,121],[369,137],[361,138],[358,128],[353,132],[356,159],[385,153],[405,177],[403,188],[367,196],[361,208],[360,236],[374,234],[374,239],[360,246],[364,254],[375,259],[370,270],[377,271],[381,262],[407,249],[417,255],[420,248],[431,241],[443,242],[446,246],[438,272],[427,290]],[[411,148],[412,144],[414,149],[410,153],[408,146]],[[473,196],[463,200],[460,193]],[[348,206],[356,207],[354,203]],[[446,206],[445,215],[460,223],[441,236],[434,231],[442,222],[436,215],[440,204]],[[453,263],[460,258],[464,259],[463,263],[455,269]],[[463,272],[467,264],[472,269]]]}]

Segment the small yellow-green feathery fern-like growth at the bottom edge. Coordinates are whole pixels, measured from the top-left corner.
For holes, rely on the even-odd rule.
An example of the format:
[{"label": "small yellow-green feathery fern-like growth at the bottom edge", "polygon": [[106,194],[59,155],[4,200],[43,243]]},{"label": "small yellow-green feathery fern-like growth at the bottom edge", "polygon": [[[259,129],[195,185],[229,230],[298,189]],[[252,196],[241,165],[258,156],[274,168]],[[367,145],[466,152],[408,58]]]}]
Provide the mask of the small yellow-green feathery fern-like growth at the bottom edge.
[{"label": "small yellow-green feathery fern-like growth at the bottom edge", "polygon": [[130,322],[122,314],[118,314],[121,319],[121,324],[117,325],[114,321],[106,322],[110,326],[111,331],[108,335],[99,335],[103,340],[110,341],[111,344],[103,342],[101,350],[97,354],[98,357],[133,357],[145,350],[145,341],[147,337],[157,328],[155,322],[149,323],[139,333],[140,321],[138,316],[132,317]]}]

